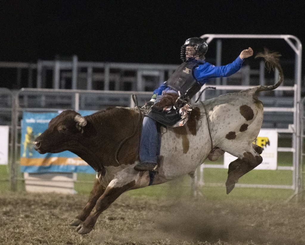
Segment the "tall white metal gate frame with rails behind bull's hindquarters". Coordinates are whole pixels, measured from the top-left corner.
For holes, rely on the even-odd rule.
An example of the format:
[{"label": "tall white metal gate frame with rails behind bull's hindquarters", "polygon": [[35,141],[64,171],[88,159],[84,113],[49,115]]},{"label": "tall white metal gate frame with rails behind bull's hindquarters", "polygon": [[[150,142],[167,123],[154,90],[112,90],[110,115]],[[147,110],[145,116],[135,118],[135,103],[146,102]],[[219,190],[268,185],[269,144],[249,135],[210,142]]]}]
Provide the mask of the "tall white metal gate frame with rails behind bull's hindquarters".
[{"label": "tall white metal gate frame with rails behind bull's hindquarters", "polygon": [[[292,148],[278,148],[278,151],[287,151],[292,152],[293,155],[293,167],[278,167],[278,169],[289,169],[293,171],[292,175],[292,186],[279,186],[279,185],[236,185],[240,187],[262,187],[262,188],[284,188],[284,189],[293,189],[295,190],[294,194],[291,198],[302,191],[302,161],[301,161],[301,60],[302,60],[302,44],[298,38],[292,35],[251,35],[251,34],[205,34],[202,35],[201,38],[206,39],[206,42],[210,44],[211,41],[217,39],[217,56],[216,63],[220,65],[221,59],[221,39],[282,39],[285,40],[286,43],[292,48],[295,53],[295,85],[293,87],[280,86],[277,90],[293,90],[294,91],[294,103],[293,108],[274,108],[274,107],[264,107],[264,112],[267,111],[291,111],[293,112],[293,124],[289,125],[287,129],[278,129],[278,132],[285,132],[292,134]],[[244,89],[244,86],[240,86],[240,88],[232,87],[232,86],[221,86],[216,85],[216,88],[223,90],[236,90],[236,89]],[[250,88],[250,87],[249,87]],[[204,99],[204,94],[202,95]],[[223,165],[207,165],[202,164],[199,167],[199,178],[195,179],[195,186],[204,185],[203,180],[203,169],[204,168],[223,168]]]}]

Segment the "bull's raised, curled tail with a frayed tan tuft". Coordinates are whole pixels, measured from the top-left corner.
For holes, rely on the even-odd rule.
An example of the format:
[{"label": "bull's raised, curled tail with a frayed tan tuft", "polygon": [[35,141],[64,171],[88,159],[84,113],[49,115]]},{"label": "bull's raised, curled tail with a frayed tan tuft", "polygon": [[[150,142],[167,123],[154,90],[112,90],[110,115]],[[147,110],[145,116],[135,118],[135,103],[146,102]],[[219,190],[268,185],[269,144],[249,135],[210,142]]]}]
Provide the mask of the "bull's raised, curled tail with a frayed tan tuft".
[{"label": "bull's raised, curled tail with a frayed tan tuft", "polygon": [[264,48],[263,53],[260,52],[255,56],[255,58],[258,57],[262,57],[265,59],[265,67],[267,68],[268,71],[270,70],[274,71],[275,68],[278,69],[279,78],[278,78],[278,82],[274,85],[258,86],[256,92],[268,91],[277,88],[284,81],[283,69],[282,66],[280,65],[280,59],[279,59],[281,57],[281,54],[279,54],[278,52],[270,52],[268,49]]}]

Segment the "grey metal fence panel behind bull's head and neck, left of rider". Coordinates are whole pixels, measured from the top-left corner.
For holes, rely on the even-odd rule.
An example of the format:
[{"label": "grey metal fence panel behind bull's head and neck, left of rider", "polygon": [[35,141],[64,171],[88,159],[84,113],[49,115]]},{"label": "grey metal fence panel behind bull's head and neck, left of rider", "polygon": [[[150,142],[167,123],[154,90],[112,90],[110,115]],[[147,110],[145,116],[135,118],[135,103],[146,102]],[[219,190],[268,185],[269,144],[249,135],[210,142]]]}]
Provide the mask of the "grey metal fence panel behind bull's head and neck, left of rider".
[{"label": "grey metal fence panel behind bull's head and neck, left of rider", "polygon": [[17,188],[20,167],[21,120],[23,111],[58,112],[61,110],[102,110],[109,106],[135,107],[132,95],[136,95],[139,105],[151,98],[151,92],[96,91],[70,89],[23,88],[13,94],[11,108],[11,190]]}]

